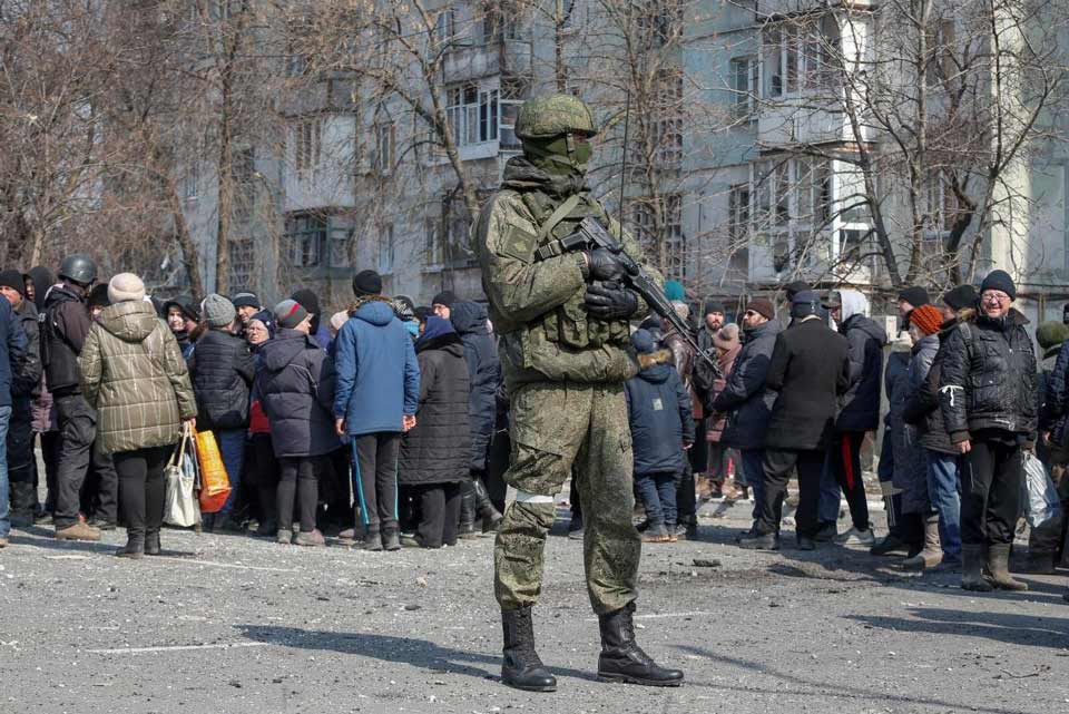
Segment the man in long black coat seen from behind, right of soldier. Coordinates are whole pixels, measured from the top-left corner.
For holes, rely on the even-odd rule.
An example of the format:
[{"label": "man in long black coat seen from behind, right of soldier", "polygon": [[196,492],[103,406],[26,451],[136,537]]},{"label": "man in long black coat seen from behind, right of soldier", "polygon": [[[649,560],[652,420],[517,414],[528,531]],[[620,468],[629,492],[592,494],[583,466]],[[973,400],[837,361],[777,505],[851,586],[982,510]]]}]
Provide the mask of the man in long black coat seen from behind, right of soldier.
[{"label": "man in long black coat seen from behind, right of soldier", "polygon": [[798,470],[798,547],[812,550],[824,452],[835,426],[838,395],[850,387],[846,339],[825,325],[820,300],[802,291],[791,304],[792,326],[776,338],[765,387],[777,393],[764,440],[764,495],[753,534],[739,545],[779,547],[779,520],[791,472]]}]

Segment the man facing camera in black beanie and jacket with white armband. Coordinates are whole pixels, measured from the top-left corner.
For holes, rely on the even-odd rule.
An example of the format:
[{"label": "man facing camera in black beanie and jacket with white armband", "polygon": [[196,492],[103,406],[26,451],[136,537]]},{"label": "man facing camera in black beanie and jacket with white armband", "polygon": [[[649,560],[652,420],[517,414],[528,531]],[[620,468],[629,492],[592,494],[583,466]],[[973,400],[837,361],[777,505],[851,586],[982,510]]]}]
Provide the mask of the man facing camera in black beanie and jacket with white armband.
[{"label": "man facing camera in black beanie and jacket with white armband", "polygon": [[975,322],[963,322],[951,333],[940,374],[943,422],[951,443],[969,461],[969,475],[961,479],[961,586],[968,590],[1028,589],[1009,571],[1022,448],[1032,449],[1037,438],[1036,353],[1024,331],[1027,320],[1012,309],[1016,299],[1017,287],[1004,271],[988,274]]}]

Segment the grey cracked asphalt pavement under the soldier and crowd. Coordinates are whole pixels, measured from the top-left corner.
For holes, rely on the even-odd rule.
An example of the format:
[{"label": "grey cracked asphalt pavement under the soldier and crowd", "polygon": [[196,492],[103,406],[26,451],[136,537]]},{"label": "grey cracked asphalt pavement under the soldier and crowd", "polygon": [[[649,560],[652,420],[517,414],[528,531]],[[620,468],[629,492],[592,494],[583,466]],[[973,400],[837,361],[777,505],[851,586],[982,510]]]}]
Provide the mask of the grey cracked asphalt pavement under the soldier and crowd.
[{"label": "grey cracked asphalt pavement under the soldier and crowd", "polygon": [[[165,530],[0,551],[0,713],[1069,712],[1066,575],[977,595],[826,546],[733,545],[745,506],[703,508],[702,539],[644,547],[638,638],[679,688],[604,684],[582,549],[549,540],[539,652],[552,694],[498,682],[488,538],[365,552]],[[841,524],[845,528],[845,524]]]}]

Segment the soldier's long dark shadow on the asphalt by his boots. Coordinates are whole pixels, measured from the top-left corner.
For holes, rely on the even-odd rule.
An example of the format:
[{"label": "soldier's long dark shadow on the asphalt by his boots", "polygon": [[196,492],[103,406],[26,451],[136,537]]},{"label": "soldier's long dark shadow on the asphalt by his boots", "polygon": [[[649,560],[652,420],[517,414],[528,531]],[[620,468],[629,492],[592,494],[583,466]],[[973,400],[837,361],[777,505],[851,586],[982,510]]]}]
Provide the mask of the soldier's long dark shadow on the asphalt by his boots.
[{"label": "soldier's long dark shadow on the asphalt by his boots", "polygon": [[[371,657],[382,662],[408,664],[429,672],[462,674],[479,679],[497,679],[500,672],[499,656],[442,647],[426,639],[393,637],[370,633],[334,633],[274,625],[235,625],[242,635],[254,642],[282,647],[298,647],[344,655]],[[482,668],[478,665],[488,665]],[[556,675],[577,679],[597,681],[589,672],[565,667],[549,667]]]}]

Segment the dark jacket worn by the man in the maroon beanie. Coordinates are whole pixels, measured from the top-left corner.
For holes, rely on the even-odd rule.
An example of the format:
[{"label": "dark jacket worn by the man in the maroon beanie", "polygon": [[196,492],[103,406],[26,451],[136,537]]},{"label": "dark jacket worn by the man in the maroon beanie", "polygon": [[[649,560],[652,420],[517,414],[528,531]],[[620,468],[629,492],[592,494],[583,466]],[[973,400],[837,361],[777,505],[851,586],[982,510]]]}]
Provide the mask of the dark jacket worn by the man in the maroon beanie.
[{"label": "dark jacket worn by the man in the maroon beanie", "polygon": [[735,366],[712,404],[715,411],[727,413],[720,443],[736,449],[759,449],[764,442],[776,400],[775,393],[765,389],[765,378],[779,332],[775,320],[744,332],[745,341],[735,358]]}]

